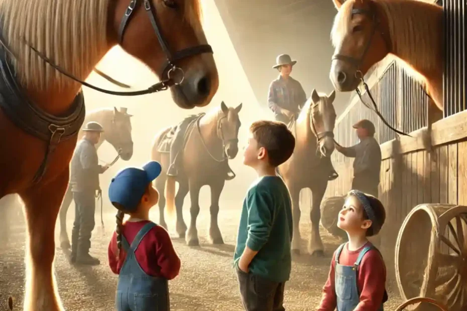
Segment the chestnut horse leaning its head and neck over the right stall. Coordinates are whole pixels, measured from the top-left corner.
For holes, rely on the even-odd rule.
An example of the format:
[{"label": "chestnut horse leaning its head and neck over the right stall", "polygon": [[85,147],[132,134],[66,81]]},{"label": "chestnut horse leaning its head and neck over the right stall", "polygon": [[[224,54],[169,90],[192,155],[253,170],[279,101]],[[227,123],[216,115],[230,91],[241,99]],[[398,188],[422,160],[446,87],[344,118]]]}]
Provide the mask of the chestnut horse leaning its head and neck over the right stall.
[{"label": "chestnut horse leaning its head and neck over the right stall", "polygon": [[335,89],[354,91],[374,64],[392,54],[443,111],[442,7],[417,0],[332,1],[338,10],[329,73]]}]

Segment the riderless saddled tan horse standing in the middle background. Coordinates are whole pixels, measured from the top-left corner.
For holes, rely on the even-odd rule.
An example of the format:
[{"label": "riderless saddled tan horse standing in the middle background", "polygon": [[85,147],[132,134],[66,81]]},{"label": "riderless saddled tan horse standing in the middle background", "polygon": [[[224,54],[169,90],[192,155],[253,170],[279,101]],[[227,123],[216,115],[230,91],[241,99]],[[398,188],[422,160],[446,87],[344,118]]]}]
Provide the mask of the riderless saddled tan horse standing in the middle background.
[{"label": "riderless saddled tan horse standing in the middle background", "polygon": [[[239,112],[242,104],[236,108],[227,107],[224,102],[207,114],[202,115],[199,127],[194,125],[187,130],[188,138],[183,149],[183,165],[180,167],[177,177],[167,177],[169,167],[169,154],[158,151],[158,145],[170,128],[160,131],[155,138],[151,159],[162,164],[163,172],[156,179],[156,189],[159,191],[159,223],[167,228],[164,219],[164,208],[167,203],[168,214],[173,213],[176,207],[177,223],[176,230],[180,238],[185,237],[186,225],[183,220],[183,201],[190,193],[191,200],[191,222],[186,236],[186,243],[190,246],[199,245],[198,230],[196,229],[196,218],[199,214],[199,191],[207,185],[211,189],[211,223],[209,226],[209,237],[213,244],[223,244],[222,235],[217,224],[219,213],[219,197],[225,184],[226,166],[222,163],[226,159],[237,156],[238,134],[240,128]],[[175,195],[175,182],[179,188]],[[164,195],[165,188],[165,195]]]}]

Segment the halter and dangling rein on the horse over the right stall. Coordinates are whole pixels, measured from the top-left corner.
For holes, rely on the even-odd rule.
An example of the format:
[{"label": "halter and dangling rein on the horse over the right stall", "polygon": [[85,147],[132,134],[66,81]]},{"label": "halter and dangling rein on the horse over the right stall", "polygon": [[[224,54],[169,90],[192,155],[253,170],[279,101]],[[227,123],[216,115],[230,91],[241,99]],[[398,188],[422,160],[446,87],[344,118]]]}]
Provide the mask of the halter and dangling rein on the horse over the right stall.
[{"label": "halter and dangling rein on the horse over the right stall", "polygon": [[367,16],[370,16],[371,19],[372,19],[372,24],[373,24],[373,28],[372,28],[372,32],[371,32],[371,35],[370,35],[370,39],[368,40],[367,42],[367,45],[365,46],[365,50],[363,51],[362,53],[362,56],[360,58],[355,58],[355,57],[352,57],[352,56],[347,56],[347,55],[342,55],[342,54],[334,54],[331,58],[331,62],[334,61],[334,60],[340,60],[340,61],[343,61],[343,62],[347,62],[349,64],[351,64],[352,66],[354,66],[356,68],[356,71],[355,71],[355,78],[357,79],[360,79],[365,87],[365,91],[367,92],[368,96],[370,97],[371,101],[372,101],[372,104],[373,104],[373,107],[371,107],[370,105],[368,105],[362,98],[362,93],[360,92],[360,89],[357,87],[355,89],[355,91],[357,92],[357,94],[359,95],[360,97],[360,101],[369,109],[375,111],[375,113],[380,117],[380,119],[383,121],[383,123],[389,127],[391,130],[395,131],[396,133],[398,134],[401,134],[401,135],[405,135],[405,136],[410,136],[409,134],[403,132],[403,131],[400,131],[396,128],[394,128],[393,126],[391,126],[388,121],[386,121],[386,119],[384,118],[384,116],[381,114],[381,112],[379,111],[378,109],[378,106],[376,105],[376,102],[375,100],[373,99],[373,96],[370,92],[370,88],[368,87],[368,84],[365,82],[365,79],[364,79],[364,75],[362,73],[362,71],[360,70],[360,65],[362,64],[365,56],[367,55],[368,51],[370,50],[370,47],[371,47],[371,43],[373,41],[373,37],[376,33],[376,29],[378,28],[378,25],[379,25],[379,21],[376,17],[376,14],[372,11],[372,10],[366,10],[366,9],[352,9],[352,16],[354,16],[355,14],[362,14],[362,15],[367,15]]}]

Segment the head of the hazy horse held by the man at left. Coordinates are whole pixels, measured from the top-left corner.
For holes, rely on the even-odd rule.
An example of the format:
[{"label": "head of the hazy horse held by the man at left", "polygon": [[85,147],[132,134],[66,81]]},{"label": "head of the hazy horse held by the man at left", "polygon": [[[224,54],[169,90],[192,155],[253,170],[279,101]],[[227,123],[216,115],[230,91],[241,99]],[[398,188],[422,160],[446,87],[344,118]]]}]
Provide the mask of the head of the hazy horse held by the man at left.
[{"label": "head of the hazy horse held by the man at left", "polygon": [[133,156],[131,117],[131,114],[119,111],[113,107],[113,118],[110,123],[110,128],[105,128],[104,132],[105,140],[107,140],[117,152],[120,150],[120,157],[125,161],[130,160]]}]

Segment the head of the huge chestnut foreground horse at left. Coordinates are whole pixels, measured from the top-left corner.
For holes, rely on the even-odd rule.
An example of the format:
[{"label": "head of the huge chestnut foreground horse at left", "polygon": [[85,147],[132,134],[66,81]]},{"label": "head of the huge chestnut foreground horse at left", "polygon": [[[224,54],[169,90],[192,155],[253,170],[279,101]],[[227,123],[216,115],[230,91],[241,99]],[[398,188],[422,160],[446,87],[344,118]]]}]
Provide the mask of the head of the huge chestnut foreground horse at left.
[{"label": "head of the huge chestnut foreground horse at left", "polygon": [[[108,0],[107,0],[108,1]],[[211,47],[201,25],[200,0],[110,1],[107,32],[113,44],[148,65],[185,109],[207,105],[219,84]]]}]

